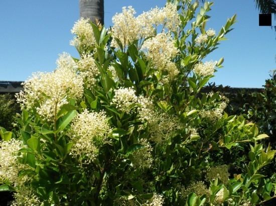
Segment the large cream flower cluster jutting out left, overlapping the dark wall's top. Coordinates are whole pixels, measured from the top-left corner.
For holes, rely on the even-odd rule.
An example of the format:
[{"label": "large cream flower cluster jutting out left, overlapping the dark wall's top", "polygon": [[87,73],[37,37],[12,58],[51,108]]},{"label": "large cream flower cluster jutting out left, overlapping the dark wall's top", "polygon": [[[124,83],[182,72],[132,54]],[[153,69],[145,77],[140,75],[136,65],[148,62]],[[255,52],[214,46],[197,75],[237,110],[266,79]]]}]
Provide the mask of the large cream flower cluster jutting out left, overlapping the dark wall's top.
[{"label": "large cream flower cluster jutting out left, overlapping the dark wall's top", "polygon": [[53,120],[54,113],[67,103],[68,98],[79,98],[83,93],[83,80],[76,74],[76,64],[69,54],[62,54],[53,72],[37,72],[23,83],[24,91],[18,93],[17,101],[23,108],[34,105],[45,119]]}]

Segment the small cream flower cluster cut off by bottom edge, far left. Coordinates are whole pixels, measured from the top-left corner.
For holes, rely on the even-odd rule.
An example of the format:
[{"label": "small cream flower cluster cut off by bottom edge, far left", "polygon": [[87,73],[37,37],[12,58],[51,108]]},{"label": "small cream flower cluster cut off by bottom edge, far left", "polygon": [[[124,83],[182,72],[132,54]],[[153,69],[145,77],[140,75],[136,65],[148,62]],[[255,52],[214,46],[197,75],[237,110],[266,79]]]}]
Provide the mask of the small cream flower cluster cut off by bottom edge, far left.
[{"label": "small cream flower cluster cut off by bottom edge, far left", "polygon": [[35,192],[28,186],[21,186],[14,194],[14,198],[15,200],[11,206],[39,206],[42,203]]}]

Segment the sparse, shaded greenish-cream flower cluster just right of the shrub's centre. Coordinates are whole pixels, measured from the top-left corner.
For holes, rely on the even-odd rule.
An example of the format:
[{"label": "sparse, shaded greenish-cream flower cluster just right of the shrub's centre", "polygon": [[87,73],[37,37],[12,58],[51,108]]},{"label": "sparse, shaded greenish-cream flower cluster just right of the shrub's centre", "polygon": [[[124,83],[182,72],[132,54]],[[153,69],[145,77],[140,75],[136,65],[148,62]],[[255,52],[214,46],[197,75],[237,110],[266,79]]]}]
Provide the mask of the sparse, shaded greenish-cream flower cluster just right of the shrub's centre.
[{"label": "sparse, shaded greenish-cream flower cluster just right of the shrub's centre", "polygon": [[151,140],[162,143],[170,138],[177,129],[182,128],[180,120],[168,113],[155,112],[149,119]]}]

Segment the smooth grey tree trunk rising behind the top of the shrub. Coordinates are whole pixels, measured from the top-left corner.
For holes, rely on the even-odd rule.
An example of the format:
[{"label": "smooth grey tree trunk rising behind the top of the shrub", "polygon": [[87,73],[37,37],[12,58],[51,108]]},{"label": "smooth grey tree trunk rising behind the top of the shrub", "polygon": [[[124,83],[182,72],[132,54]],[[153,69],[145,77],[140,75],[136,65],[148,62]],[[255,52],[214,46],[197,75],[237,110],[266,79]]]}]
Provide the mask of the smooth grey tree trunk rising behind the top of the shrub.
[{"label": "smooth grey tree trunk rising behind the top of the shrub", "polygon": [[104,0],[79,0],[80,17],[87,17],[93,23],[104,23]]}]

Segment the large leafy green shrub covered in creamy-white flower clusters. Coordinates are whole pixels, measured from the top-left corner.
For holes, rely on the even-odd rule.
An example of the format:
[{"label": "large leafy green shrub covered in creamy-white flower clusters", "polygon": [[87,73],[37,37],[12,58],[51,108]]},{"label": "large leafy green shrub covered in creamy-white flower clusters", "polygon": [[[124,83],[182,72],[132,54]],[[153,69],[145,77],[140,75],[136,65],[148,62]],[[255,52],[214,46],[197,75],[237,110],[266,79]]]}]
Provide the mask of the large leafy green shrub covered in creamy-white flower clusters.
[{"label": "large leafy green shrub covered in creamy-white flower clusters", "polygon": [[[249,205],[274,195],[262,175],[275,150],[201,88],[223,59],[204,62],[231,30],[205,29],[212,3],[174,0],[114,26],[81,18],[57,69],[18,94],[15,133],[1,127],[1,190],[13,205]],[[188,22],[191,22],[186,29]],[[242,163],[240,163],[242,159]],[[238,161],[239,160],[239,161]],[[239,162],[239,163],[237,163]],[[249,203],[250,202],[250,203]]]}]

